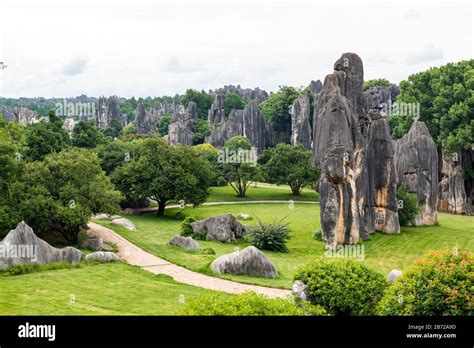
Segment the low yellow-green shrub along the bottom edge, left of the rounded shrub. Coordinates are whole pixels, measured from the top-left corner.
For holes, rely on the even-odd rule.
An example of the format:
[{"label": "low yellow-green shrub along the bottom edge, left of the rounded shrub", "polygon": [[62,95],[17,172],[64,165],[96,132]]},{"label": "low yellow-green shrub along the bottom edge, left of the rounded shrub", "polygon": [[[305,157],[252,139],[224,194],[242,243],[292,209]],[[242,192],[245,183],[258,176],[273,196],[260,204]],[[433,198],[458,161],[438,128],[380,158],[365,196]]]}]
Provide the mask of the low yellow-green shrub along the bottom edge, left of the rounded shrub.
[{"label": "low yellow-green shrub along the bottom edge, left of the rounded shrub", "polygon": [[200,296],[190,300],[180,314],[205,316],[327,315],[320,306],[306,303],[300,307],[288,299],[271,299],[250,291],[231,297]]}]

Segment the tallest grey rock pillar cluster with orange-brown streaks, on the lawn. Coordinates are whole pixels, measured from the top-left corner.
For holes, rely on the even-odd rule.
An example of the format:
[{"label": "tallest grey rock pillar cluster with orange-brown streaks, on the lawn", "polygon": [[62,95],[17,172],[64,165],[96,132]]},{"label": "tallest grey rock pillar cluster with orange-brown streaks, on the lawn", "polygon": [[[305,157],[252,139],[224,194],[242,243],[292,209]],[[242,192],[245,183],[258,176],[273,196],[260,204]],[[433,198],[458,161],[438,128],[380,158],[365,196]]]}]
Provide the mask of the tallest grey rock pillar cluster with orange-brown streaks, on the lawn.
[{"label": "tallest grey rock pillar cluster with orange-brown streaks, on the lawn", "polygon": [[355,244],[375,229],[398,233],[395,150],[384,113],[362,91],[363,64],[344,53],[314,107],[313,160],[326,246]]}]

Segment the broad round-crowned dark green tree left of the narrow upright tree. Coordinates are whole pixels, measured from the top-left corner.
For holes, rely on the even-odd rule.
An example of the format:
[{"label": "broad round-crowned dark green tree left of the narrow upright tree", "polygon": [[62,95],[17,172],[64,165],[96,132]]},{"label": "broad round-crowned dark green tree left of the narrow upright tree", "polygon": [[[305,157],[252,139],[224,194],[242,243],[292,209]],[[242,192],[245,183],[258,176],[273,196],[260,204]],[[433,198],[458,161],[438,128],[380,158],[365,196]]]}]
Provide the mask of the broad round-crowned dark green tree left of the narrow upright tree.
[{"label": "broad round-crowned dark green tree left of the narrow upright tree", "polygon": [[131,199],[151,198],[163,215],[171,202],[199,205],[209,196],[209,163],[187,146],[172,147],[148,138],[131,145],[131,159],[112,174],[113,182]]}]

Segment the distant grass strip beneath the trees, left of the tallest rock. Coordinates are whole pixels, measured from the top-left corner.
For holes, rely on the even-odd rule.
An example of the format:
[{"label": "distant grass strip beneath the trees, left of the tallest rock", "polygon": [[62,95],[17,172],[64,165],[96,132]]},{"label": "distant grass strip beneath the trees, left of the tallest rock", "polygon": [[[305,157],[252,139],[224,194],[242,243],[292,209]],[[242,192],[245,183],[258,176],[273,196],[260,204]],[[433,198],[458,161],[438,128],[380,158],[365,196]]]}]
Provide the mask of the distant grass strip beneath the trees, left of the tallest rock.
[{"label": "distant grass strip beneath the trees, left of the tallest rock", "polygon": [[[260,186],[258,186],[260,185]],[[283,200],[283,201],[318,201],[319,194],[312,189],[304,189],[299,196],[292,196],[288,186],[282,185],[279,188],[262,187],[274,186],[270,184],[252,184],[247,190],[247,197],[237,197],[237,194],[230,186],[211,187],[208,202],[229,202],[229,201],[255,201],[255,200]]]}]

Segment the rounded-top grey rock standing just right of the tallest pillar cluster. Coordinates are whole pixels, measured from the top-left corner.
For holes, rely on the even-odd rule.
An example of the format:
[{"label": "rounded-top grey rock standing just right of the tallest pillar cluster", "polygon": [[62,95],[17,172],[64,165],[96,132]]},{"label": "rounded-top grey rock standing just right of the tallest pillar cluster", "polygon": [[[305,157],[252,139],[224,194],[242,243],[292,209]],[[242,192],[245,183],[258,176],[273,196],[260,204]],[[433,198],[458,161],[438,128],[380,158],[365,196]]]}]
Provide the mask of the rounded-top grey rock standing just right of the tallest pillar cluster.
[{"label": "rounded-top grey rock standing just right of the tallest pillar cluster", "polygon": [[[396,142],[397,173],[407,191],[418,197],[415,226],[438,220],[438,151],[425,124],[414,121],[410,131]],[[402,208],[403,209],[403,208]]]}]

